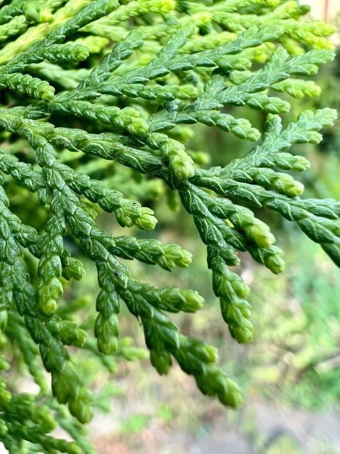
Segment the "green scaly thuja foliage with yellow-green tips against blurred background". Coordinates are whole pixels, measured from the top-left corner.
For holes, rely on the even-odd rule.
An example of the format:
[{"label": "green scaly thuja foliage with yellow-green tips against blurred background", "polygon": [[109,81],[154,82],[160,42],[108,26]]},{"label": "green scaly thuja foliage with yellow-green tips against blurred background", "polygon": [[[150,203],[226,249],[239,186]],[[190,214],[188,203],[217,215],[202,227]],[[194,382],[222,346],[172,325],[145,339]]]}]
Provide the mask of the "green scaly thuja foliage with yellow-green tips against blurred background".
[{"label": "green scaly thuja foliage with yellow-green tips against blurred background", "polygon": [[[96,222],[103,210],[120,226],[156,226],[154,212],[131,198],[129,181],[142,200],[159,180],[169,204],[176,209],[180,201],[191,214],[222,318],[239,343],[251,341],[253,326],[249,288],[232,271],[238,252],[275,274],[285,267],[273,234],[252,209],[293,221],[340,265],[340,203],[300,198],[303,186],[293,175],[310,163],[290,153],[293,144],[319,143],[319,131],[336,113],[301,111],[293,123],[284,120],[289,96],[319,95],[310,77],[334,58],[326,38],[332,27],[305,21],[307,12],[290,0],[2,2],[0,434],[11,453],[94,452],[79,423],[91,420],[96,397],[74,361],[77,349],[107,367],[110,358],[141,354],[120,339],[120,304],[140,321],[160,374],[174,358],[203,394],[227,406],[242,403],[239,387],[217,365],[217,350],[184,336],[167,315],[195,312],[203,298],[193,289],[139,282],[121,261],[171,271],[190,265],[191,253],[149,235],[114,236]],[[242,118],[244,109],[234,117],[225,106],[263,111],[263,131]],[[225,150],[224,167],[207,168],[201,153],[186,149],[186,125],[193,123],[256,144],[237,160]],[[115,179],[91,176],[104,160]],[[27,190],[40,208],[35,196],[23,197]],[[67,281],[85,279],[72,244],[98,273],[94,323],[84,312],[84,320],[75,316],[83,300],[63,303]],[[26,363],[40,393],[11,392],[5,373],[14,367],[11,352]],[[74,442],[50,436],[57,425]]]}]

